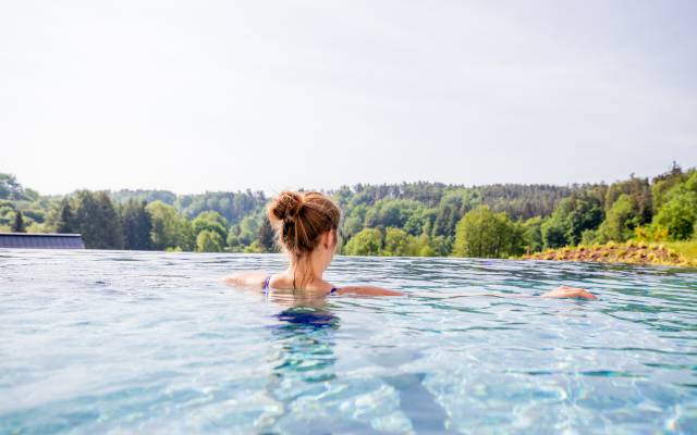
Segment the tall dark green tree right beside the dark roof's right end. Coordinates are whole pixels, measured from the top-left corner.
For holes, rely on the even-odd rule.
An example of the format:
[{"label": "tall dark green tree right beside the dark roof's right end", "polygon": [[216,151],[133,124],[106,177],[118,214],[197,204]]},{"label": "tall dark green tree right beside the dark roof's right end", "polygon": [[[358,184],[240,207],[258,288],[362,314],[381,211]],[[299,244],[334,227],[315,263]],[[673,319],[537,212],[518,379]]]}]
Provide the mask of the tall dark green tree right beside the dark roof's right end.
[{"label": "tall dark green tree right beside the dark roof's right end", "polygon": [[78,191],[75,223],[88,249],[123,249],[121,219],[106,191]]}]

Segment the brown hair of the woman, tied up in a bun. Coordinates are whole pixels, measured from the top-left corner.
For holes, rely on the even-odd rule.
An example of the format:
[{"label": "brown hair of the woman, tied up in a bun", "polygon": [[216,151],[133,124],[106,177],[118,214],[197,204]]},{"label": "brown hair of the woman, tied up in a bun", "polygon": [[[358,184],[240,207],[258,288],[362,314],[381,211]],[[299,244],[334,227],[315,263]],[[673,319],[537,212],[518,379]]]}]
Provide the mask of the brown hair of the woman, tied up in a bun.
[{"label": "brown hair of the woman, tied up in a bun", "polygon": [[307,257],[328,231],[337,240],[341,210],[319,191],[283,191],[271,201],[267,214],[279,245],[295,261]]}]

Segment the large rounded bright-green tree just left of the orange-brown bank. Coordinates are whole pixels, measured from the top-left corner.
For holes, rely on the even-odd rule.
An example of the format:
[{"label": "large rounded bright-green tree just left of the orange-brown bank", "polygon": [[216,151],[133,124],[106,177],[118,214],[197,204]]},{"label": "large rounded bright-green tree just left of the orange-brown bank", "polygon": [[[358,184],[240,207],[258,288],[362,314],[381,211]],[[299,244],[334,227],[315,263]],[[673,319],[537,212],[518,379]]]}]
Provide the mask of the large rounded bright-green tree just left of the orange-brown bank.
[{"label": "large rounded bright-green tree just left of the orange-brown bank", "polygon": [[479,206],[457,223],[453,254],[504,258],[519,252],[522,245],[522,227],[505,213],[493,213],[488,206]]}]

